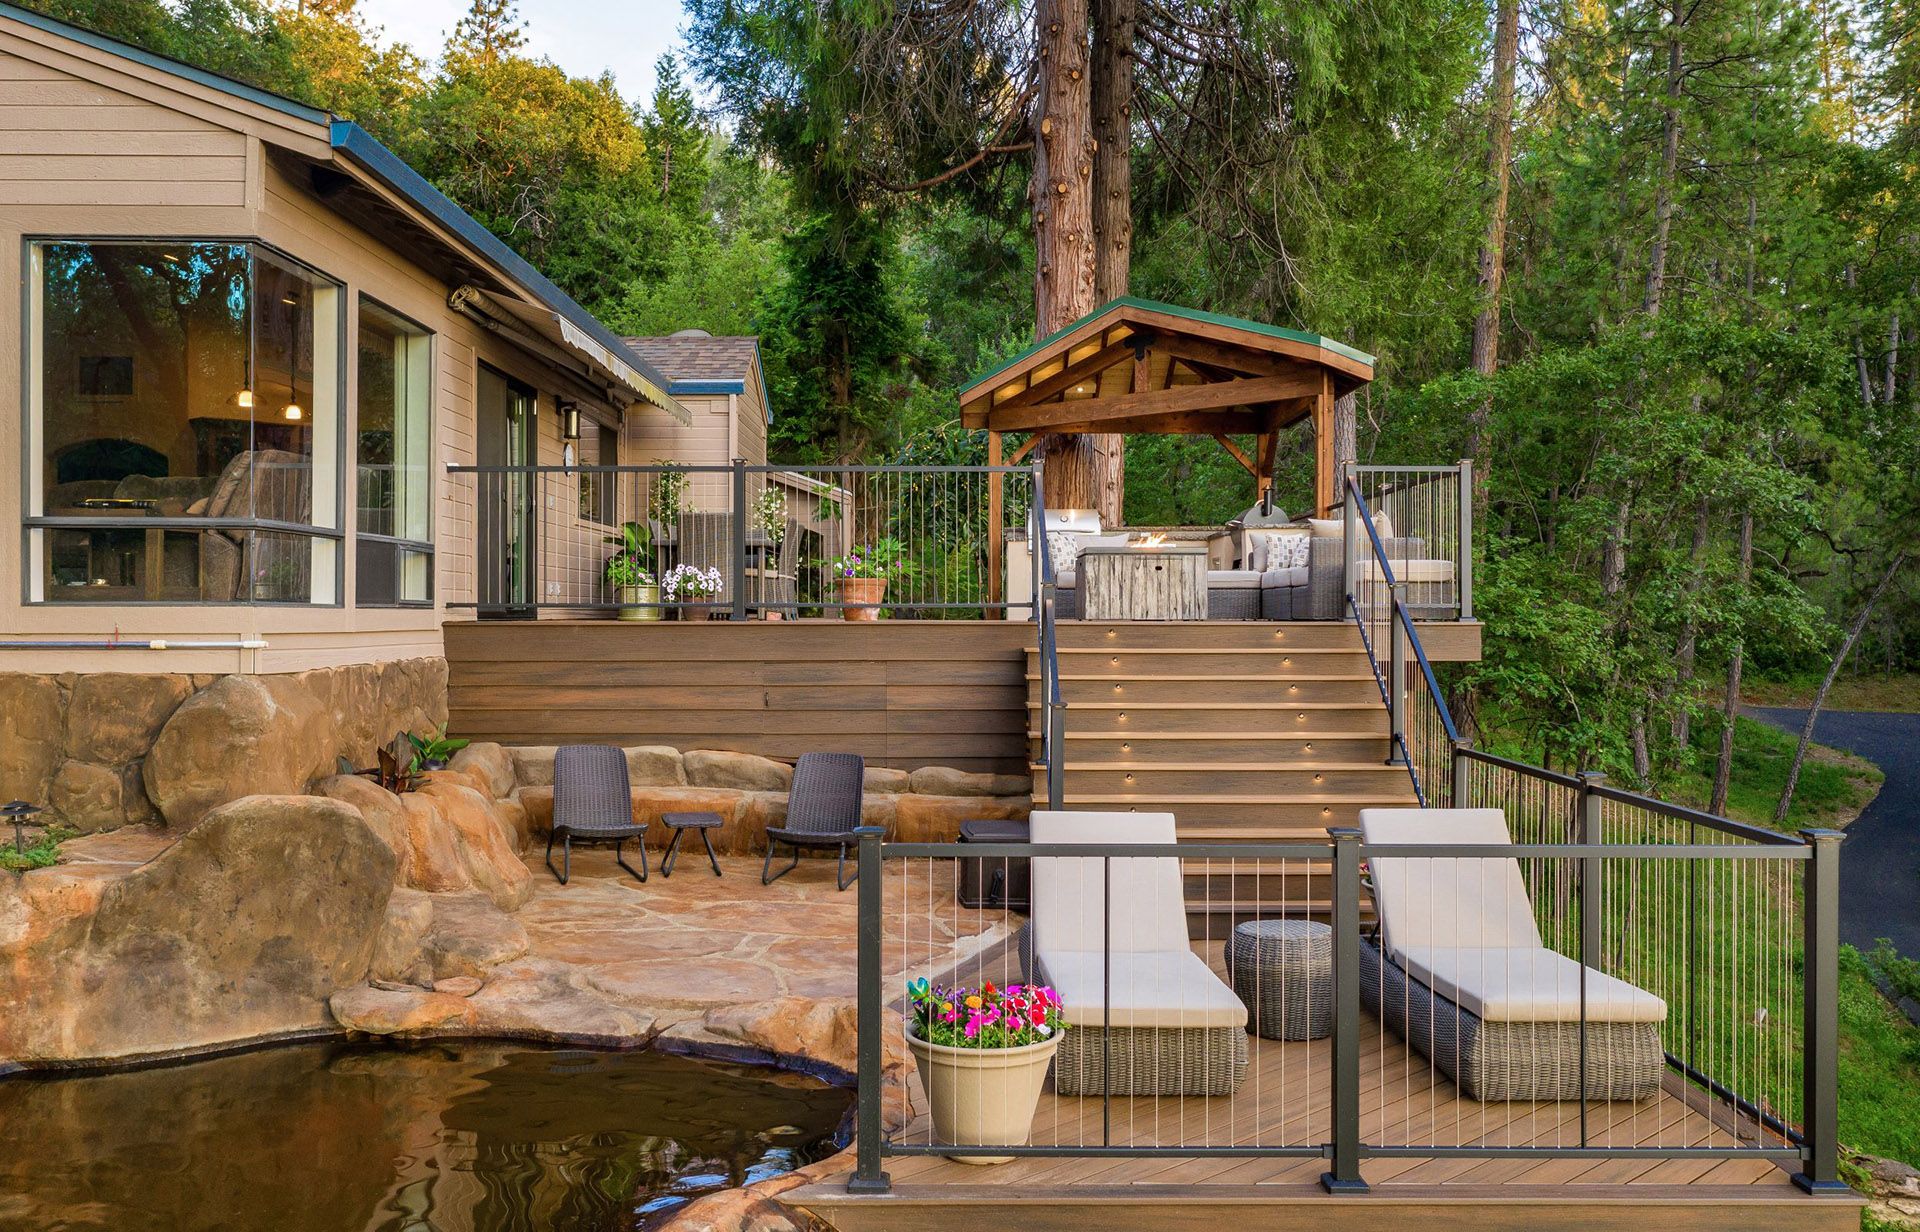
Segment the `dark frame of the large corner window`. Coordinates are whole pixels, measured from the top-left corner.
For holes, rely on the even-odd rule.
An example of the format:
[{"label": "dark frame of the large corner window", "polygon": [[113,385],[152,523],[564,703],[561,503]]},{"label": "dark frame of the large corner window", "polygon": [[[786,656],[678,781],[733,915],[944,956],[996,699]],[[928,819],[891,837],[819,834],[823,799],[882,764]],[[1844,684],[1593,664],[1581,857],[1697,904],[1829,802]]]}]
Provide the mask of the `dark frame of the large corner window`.
[{"label": "dark frame of the large corner window", "polygon": [[[334,514],[340,526],[315,526],[305,522],[278,522],[271,518],[81,518],[81,516],[48,516],[46,509],[46,487],[42,484],[44,476],[44,451],[46,451],[46,432],[44,432],[44,407],[40,405],[44,390],[42,372],[42,351],[44,351],[44,294],[46,294],[46,265],[40,255],[46,244],[113,244],[121,248],[138,246],[161,246],[161,244],[182,244],[182,246],[246,246],[248,249],[265,249],[276,261],[284,261],[296,271],[303,271],[324,282],[332,284],[336,292],[334,303],[334,330],[338,345],[334,345],[334,441],[332,453],[336,459],[334,466]],[[348,409],[348,299],[353,288],[346,278],[326,272],[311,261],[303,261],[294,253],[286,251],[278,244],[261,240],[259,236],[234,236],[234,234],[209,234],[209,236],[180,236],[180,234],[54,234],[54,232],[31,232],[19,238],[19,259],[21,259],[21,328],[19,328],[19,468],[21,468],[21,505],[19,505],[19,547],[21,547],[21,570],[19,570],[19,601],[21,606],[33,608],[71,608],[71,610],[90,610],[108,606],[138,606],[138,608],[271,608],[271,610],[340,610],[346,606],[346,476],[348,476],[348,436],[346,436],[346,409]],[[252,284],[250,284],[252,294]],[[248,309],[252,311],[252,301]],[[319,317],[315,317],[319,320]],[[248,347],[252,355],[253,340],[248,338]],[[319,347],[319,340],[315,340]],[[315,447],[315,455],[319,449]],[[35,512],[42,510],[42,512]],[[326,603],[294,601],[282,603],[275,599],[115,599],[113,603],[90,604],[81,601],[63,603],[60,599],[48,597],[46,591],[46,558],[48,558],[48,532],[60,530],[144,530],[144,532],[204,532],[204,530],[253,530],[265,533],[284,533],[300,535],[303,539],[323,539],[334,545],[332,549],[332,599]],[[38,593],[36,593],[38,591]]]}]

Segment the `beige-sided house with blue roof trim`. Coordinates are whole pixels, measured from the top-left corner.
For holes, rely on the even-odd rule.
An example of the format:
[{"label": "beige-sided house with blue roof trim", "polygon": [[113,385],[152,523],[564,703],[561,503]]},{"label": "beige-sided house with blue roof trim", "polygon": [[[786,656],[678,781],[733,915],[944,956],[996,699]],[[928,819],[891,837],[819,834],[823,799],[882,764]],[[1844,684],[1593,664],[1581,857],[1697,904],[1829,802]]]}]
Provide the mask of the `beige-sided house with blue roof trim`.
[{"label": "beige-sided house with blue roof trim", "polygon": [[557,585],[524,487],[605,530],[591,476],[447,464],[764,459],[751,340],[676,382],[349,121],[8,4],[0,81],[0,629],[61,643],[25,670],[438,656],[490,572]]}]

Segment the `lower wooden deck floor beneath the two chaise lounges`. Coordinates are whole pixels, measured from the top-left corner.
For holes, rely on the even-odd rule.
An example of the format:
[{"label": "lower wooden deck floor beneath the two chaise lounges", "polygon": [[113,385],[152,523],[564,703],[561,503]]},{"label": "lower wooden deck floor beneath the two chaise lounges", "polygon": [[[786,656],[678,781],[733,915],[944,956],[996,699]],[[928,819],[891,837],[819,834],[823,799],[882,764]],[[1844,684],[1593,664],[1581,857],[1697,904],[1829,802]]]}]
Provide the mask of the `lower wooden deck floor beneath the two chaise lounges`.
[{"label": "lower wooden deck floor beneath the two chaise lounges", "polygon": [[[1221,944],[1196,952],[1219,967]],[[1004,960],[1002,960],[1004,961]],[[991,965],[991,960],[989,960]],[[970,963],[966,977],[977,977]],[[1329,1040],[1250,1040],[1246,1082],[1231,1098],[1116,1098],[1116,1146],[1309,1146],[1331,1134]],[[931,1142],[922,1111],[897,1136]],[[1690,1094],[1678,1080],[1640,1103],[1590,1103],[1590,1146],[1709,1148],[1780,1146]],[[1098,1146],[1102,1102],[1060,1098],[1048,1086],[1033,1121],[1035,1146]],[[1580,1146],[1578,1103],[1480,1103],[1463,1100],[1427,1057],[1365,1017],[1361,1025],[1361,1142],[1421,1146]],[[1281,1219],[1306,1228],[1379,1228],[1417,1217],[1434,1228],[1857,1228],[1859,1203],[1807,1197],[1766,1159],[1484,1159],[1379,1157],[1361,1167],[1367,1196],[1321,1190],[1317,1157],[1027,1157],[975,1167],[937,1155],[887,1159],[893,1192],[854,1197],[845,1178],[781,1196],[841,1232],[910,1232],[1004,1226],[1213,1228]],[[1392,1211],[1388,1211],[1392,1207]]]}]

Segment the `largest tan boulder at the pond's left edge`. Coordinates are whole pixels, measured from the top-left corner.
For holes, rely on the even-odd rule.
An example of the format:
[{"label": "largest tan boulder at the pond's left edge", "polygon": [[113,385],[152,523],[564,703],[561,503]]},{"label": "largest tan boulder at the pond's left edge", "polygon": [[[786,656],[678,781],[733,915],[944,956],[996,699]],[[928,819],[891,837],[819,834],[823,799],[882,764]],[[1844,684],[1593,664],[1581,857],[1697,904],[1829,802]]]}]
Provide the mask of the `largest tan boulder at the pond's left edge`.
[{"label": "largest tan boulder at the pond's left edge", "polygon": [[326,1000],[367,977],[394,864],[338,800],[250,796],[131,873],[8,879],[0,1055],[125,1057],[324,1029]]}]

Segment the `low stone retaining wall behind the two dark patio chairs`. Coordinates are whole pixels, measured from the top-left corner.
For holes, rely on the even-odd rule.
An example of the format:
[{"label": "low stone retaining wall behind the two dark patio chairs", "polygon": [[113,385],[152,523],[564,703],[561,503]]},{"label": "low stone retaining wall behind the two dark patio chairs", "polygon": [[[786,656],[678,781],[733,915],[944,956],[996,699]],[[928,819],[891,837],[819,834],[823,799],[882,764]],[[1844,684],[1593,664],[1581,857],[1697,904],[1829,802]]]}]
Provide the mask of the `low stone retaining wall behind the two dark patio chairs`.
[{"label": "low stone retaining wall behind the two dark patio chairs", "polygon": [[[553,746],[509,748],[513,758],[513,798],[526,808],[530,835],[553,829]],[[712,831],[714,850],[751,856],[766,850],[766,827],[787,819],[787,787],[793,766],[753,756],[666,745],[639,745],[626,750],[628,779],[634,785],[634,819],[653,821],[647,846],[660,848],[672,831],[659,825],[660,814],[720,814]],[[952,842],[960,823],[975,817],[1025,817],[1033,808],[1033,781],[1020,775],[968,773],[948,766],[914,771],[868,768],[862,821],[883,825],[897,842]],[[687,839],[691,841],[691,837]],[[685,846],[685,844],[682,844]]]}]

